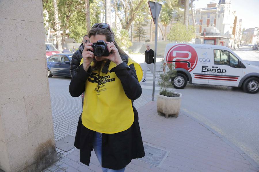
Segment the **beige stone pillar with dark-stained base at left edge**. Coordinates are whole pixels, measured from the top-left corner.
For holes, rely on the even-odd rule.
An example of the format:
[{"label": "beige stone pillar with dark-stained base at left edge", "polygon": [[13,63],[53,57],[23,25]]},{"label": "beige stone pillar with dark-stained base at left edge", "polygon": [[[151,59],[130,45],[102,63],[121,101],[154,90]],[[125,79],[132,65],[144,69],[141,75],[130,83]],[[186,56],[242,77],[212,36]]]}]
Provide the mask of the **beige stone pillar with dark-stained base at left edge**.
[{"label": "beige stone pillar with dark-stained base at left edge", "polygon": [[57,160],[41,0],[0,1],[0,169],[39,172]]}]

